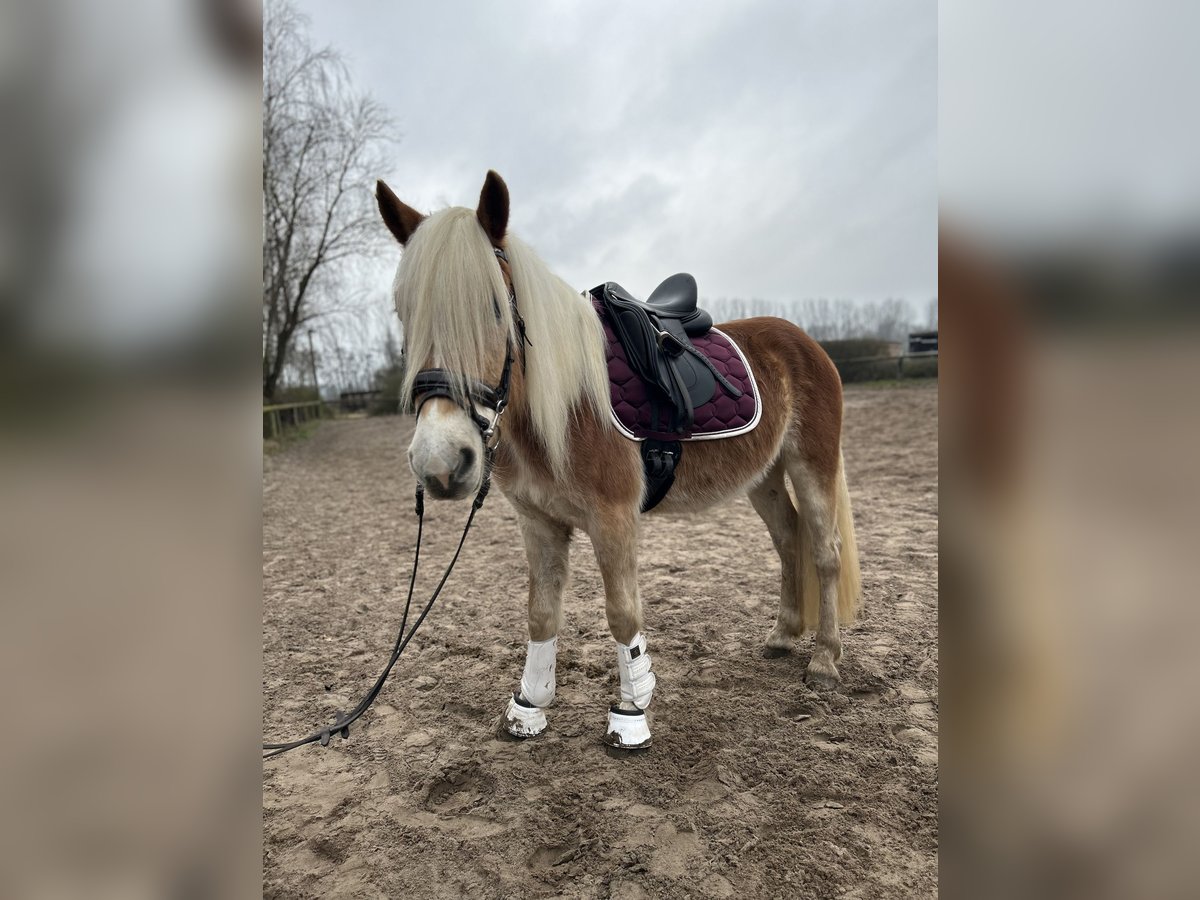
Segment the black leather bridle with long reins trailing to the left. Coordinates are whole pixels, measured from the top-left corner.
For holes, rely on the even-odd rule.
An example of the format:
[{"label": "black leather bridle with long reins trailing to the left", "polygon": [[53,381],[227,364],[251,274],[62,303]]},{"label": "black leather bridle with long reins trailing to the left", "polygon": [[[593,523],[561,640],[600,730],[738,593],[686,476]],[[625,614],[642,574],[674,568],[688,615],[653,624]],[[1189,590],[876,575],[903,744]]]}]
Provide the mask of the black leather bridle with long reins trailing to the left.
[{"label": "black leather bridle with long reins trailing to the left", "polygon": [[[509,262],[508,256],[499,247],[493,247],[496,251],[497,259],[504,260],[506,264]],[[503,268],[502,268],[503,272]],[[509,289],[509,306],[512,310],[512,322],[516,325],[517,340],[520,341],[521,350],[521,371],[524,371],[526,364],[526,346],[532,347],[533,343],[526,336],[524,319],[521,318],[521,313],[517,312],[517,298],[516,293]],[[496,318],[500,318],[499,305],[496,307]],[[462,395],[461,390],[457,390],[457,385],[466,383],[467,396]],[[404,648],[408,647],[408,642],[413,640],[416,634],[416,629],[421,626],[425,622],[425,617],[430,614],[430,610],[433,608],[434,601],[442,594],[442,588],[445,587],[446,581],[450,577],[450,572],[454,571],[455,563],[458,562],[458,554],[462,552],[463,544],[467,542],[467,534],[470,532],[470,526],[475,521],[475,514],[479,512],[480,508],[484,505],[484,500],[487,498],[487,492],[492,486],[492,464],[496,458],[496,448],[499,445],[499,437],[497,432],[497,426],[499,425],[500,416],[504,414],[505,408],[509,404],[509,391],[512,386],[512,336],[511,334],[505,340],[504,348],[504,368],[500,372],[499,383],[492,388],[491,385],[484,384],[482,382],[474,382],[470,379],[464,379],[462,377],[456,377],[452,372],[444,368],[424,368],[416,373],[413,379],[413,406],[416,416],[420,418],[421,407],[425,406],[433,397],[445,397],[451,402],[456,403],[462,408],[475,422],[475,427],[479,428],[479,433],[484,438],[484,476],[479,485],[479,492],[475,494],[475,499],[470,504],[470,514],[467,516],[467,524],[463,526],[462,536],[458,539],[458,547],[454,552],[454,558],[450,559],[450,565],[446,566],[445,572],[442,574],[442,580],[438,582],[437,588],[434,588],[433,594],[430,595],[428,601],[421,610],[420,616],[416,617],[416,622],[413,623],[413,628],[407,632],[404,629],[408,626],[408,612],[413,604],[413,587],[416,584],[416,566],[421,560],[421,535],[425,530],[425,486],[420,481],[416,482],[416,548],[413,552],[413,574],[408,581],[408,598],[404,600],[404,616],[400,620],[400,632],[396,635],[396,642],[391,648],[391,656],[388,659],[388,665],[384,666],[383,672],[376,679],[371,690],[367,691],[366,696],[358,702],[358,704],[349,713],[340,713],[335,719],[334,724],[312,732],[311,734],[298,738],[296,740],[289,740],[287,743],[264,743],[263,744],[263,758],[268,760],[272,756],[280,756],[286,754],[288,750],[295,750],[298,746],[304,746],[305,744],[319,743],[322,746],[328,746],[332,734],[341,734],[343,739],[350,736],[350,725],[358,721],[371,704],[374,703],[376,697],[383,690],[384,682],[388,680],[388,676],[391,674],[392,667],[395,667],[396,661],[400,659]],[[481,415],[475,408],[478,406],[485,409],[491,409],[496,415],[491,420],[487,416]]]}]

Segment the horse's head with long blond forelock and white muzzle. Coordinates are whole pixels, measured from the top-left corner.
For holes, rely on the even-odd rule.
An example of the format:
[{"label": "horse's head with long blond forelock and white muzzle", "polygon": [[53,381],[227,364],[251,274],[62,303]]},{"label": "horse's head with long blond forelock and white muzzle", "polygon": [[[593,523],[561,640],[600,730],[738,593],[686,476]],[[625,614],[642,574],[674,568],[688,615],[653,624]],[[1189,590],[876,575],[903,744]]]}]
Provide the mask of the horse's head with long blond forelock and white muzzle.
[{"label": "horse's head with long blond forelock and white muzzle", "polygon": [[516,352],[512,276],[503,258],[509,191],[488,172],[476,210],[451,206],[430,216],[383,181],[376,197],[404,247],[392,289],[404,325],[401,390],[416,412],[408,462],[431,497],[472,497]]}]

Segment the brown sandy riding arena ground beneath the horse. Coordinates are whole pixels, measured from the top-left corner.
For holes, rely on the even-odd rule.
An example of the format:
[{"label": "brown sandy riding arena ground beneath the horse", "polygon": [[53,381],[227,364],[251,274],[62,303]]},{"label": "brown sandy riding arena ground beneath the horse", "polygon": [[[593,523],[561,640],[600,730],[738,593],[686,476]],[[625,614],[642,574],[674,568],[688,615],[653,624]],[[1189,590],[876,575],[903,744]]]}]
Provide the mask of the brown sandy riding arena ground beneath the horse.
[{"label": "brown sandy riding arena ground beneath the horse", "polygon": [[[263,484],[264,728],[307,733],[385,661],[415,539],[409,420],[322,425]],[[494,737],[523,665],[526,569],[493,492],[428,620],[348,742],[264,764],[264,895],[930,896],[937,892],[937,390],[846,391],[864,611],[844,683],[764,659],[779,559],[745,499],[648,520],[654,746],[600,744],[617,696],[600,577],[572,547],[545,736]],[[430,504],[418,595],[461,532]],[[709,548],[684,568],[688,547]],[[425,586],[425,590],[420,587]]]}]

